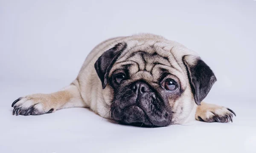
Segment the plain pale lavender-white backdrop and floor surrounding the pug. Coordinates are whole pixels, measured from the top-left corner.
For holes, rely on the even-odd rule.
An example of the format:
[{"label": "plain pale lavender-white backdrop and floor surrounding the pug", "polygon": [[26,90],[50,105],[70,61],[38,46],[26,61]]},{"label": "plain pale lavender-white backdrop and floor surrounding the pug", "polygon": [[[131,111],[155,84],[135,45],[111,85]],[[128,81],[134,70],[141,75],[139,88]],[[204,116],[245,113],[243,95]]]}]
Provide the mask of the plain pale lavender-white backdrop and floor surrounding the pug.
[{"label": "plain pale lavender-white backdrop and floor surrounding the pug", "polygon": [[[218,81],[206,101],[233,123],[116,125],[85,108],[12,116],[20,96],[68,85],[99,42],[141,32],[197,51]],[[0,0],[0,152],[256,152],[256,1]]]}]

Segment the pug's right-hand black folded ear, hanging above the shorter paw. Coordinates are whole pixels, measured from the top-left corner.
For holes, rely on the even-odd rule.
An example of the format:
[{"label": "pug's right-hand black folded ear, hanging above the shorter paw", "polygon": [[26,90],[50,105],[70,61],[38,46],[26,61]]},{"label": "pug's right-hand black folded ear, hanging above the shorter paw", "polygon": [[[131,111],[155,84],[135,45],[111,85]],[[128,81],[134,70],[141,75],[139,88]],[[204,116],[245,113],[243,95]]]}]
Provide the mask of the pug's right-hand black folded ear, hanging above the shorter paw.
[{"label": "pug's right-hand black folded ear, hanging above the shorter paw", "polygon": [[182,60],[186,66],[195,103],[201,105],[201,101],[207,96],[217,79],[210,67],[200,57],[185,55]]}]

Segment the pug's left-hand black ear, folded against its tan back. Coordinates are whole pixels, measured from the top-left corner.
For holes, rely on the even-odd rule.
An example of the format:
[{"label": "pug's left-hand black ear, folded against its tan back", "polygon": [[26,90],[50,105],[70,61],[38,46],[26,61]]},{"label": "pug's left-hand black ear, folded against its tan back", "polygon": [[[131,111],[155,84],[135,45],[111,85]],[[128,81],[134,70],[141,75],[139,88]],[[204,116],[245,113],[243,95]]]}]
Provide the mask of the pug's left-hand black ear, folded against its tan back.
[{"label": "pug's left-hand black ear, folded against its tan back", "polygon": [[102,82],[102,88],[104,89],[108,83],[108,74],[111,70],[116,59],[125,50],[127,44],[125,42],[120,42],[116,44],[113,48],[105,51],[95,62],[94,68]]}]

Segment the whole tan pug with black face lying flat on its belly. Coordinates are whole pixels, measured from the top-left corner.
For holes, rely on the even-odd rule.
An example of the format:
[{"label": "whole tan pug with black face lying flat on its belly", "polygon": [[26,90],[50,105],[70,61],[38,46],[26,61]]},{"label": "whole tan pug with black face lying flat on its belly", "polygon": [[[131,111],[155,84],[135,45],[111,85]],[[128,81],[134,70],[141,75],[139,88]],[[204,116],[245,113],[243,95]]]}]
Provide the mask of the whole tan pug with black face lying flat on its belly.
[{"label": "whole tan pug with black face lying flat on its belly", "polygon": [[154,34],[116,37],[93,48],[66,88],[15,100],[13,115],[84,107],[128,125],[233,122],[231,109],[202,102],[215,81],[199,55],[178,42]]}]

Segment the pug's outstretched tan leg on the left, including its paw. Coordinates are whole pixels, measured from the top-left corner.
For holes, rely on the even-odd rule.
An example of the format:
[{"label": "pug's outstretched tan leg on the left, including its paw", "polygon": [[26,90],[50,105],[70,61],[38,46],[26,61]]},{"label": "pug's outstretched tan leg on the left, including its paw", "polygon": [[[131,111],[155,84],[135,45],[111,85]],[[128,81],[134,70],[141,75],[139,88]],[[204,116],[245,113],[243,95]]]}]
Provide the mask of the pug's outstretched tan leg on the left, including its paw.
[{"label": "pug's outstretched tan leg on the left, including its paw", "polygon": [[79,88],[71,84],[51,94],[32,94],[18,98],[12,103],[13,115],[41,115],[58,109],[88,107],[82,100]]}]

